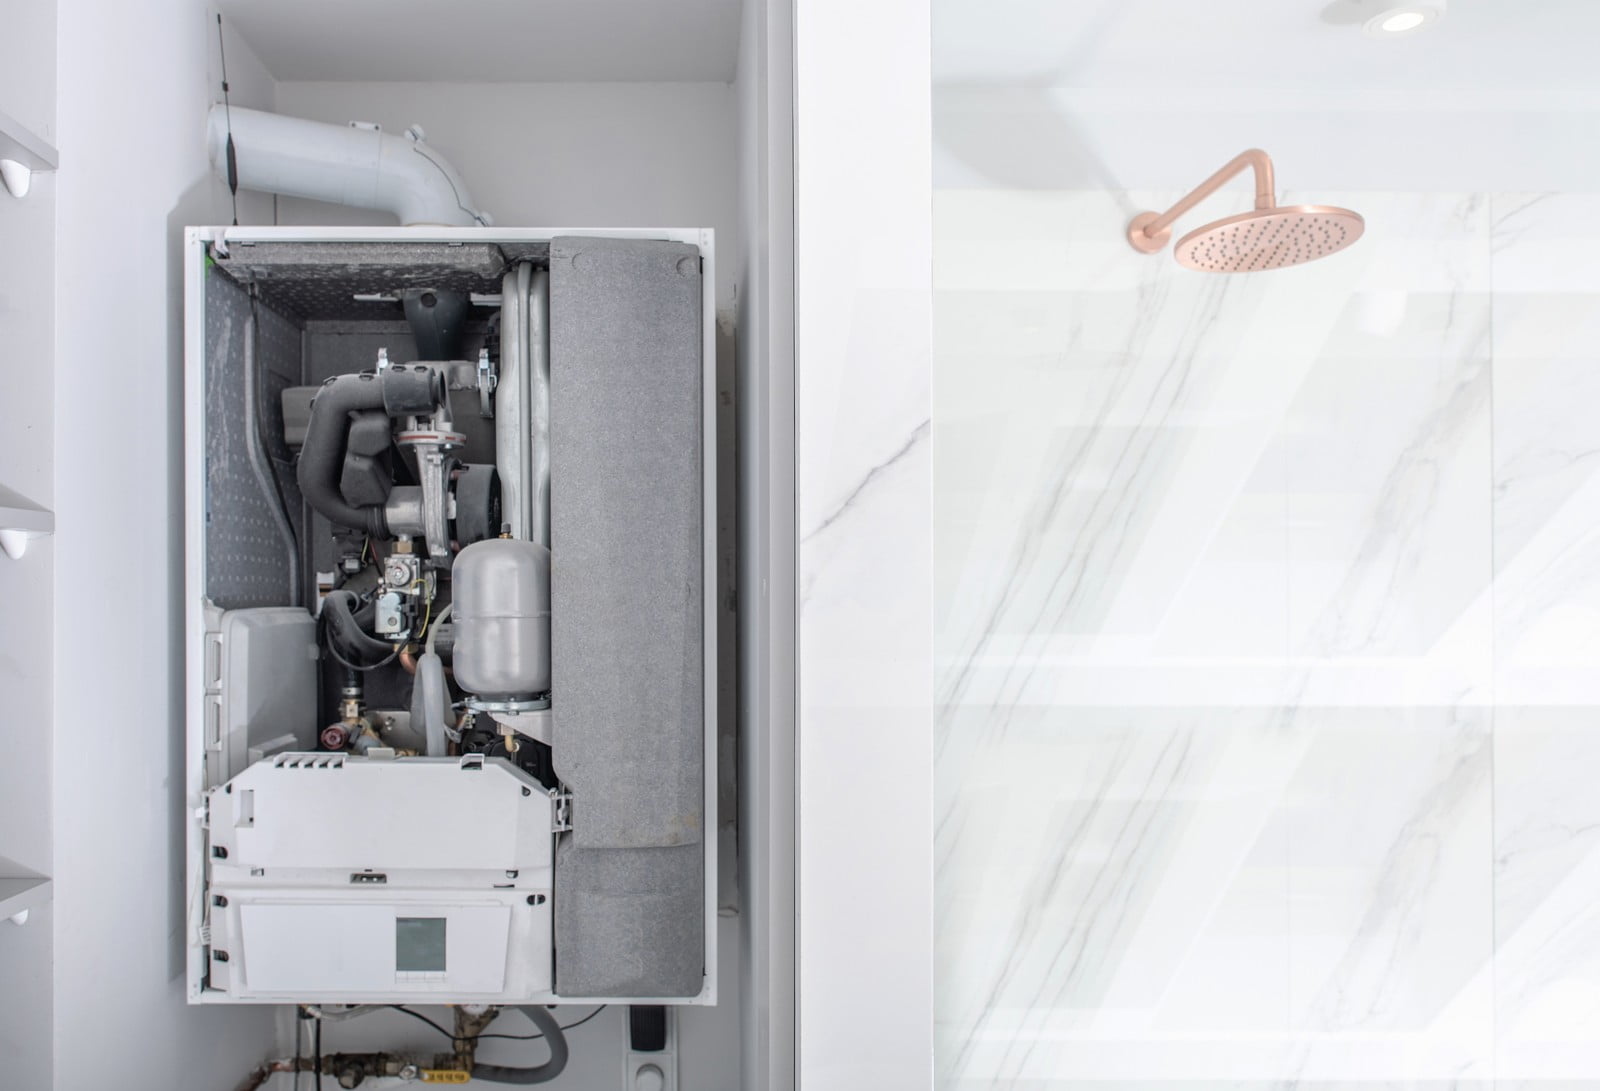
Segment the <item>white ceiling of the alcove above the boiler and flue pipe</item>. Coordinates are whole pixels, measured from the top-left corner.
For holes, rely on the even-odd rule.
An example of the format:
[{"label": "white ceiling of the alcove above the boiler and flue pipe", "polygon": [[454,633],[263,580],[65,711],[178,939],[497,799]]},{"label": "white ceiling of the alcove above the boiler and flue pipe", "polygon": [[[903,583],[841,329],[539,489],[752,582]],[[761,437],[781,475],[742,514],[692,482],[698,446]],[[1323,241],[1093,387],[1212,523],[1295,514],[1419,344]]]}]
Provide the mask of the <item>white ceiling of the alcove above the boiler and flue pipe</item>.
[{"label": "white ceiling of the alcove above the boiler and flue pipe", "polygon": [[731,80],[741,0],[219,0],[277,80]]}]

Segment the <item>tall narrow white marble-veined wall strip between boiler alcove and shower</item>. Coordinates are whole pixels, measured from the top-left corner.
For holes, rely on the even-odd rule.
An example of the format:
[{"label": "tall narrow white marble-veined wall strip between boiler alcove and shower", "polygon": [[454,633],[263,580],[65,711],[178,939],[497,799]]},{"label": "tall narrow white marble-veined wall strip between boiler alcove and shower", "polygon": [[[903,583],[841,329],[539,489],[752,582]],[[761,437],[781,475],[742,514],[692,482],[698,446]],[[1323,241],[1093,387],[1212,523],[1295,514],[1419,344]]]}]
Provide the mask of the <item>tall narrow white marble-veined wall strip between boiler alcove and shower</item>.
[{"label": "tall narrow white marble-veined wall strip between boiler alcove and shower", "polygon": [[800,1083],[931,1081],[928,5],[795,11]]}]

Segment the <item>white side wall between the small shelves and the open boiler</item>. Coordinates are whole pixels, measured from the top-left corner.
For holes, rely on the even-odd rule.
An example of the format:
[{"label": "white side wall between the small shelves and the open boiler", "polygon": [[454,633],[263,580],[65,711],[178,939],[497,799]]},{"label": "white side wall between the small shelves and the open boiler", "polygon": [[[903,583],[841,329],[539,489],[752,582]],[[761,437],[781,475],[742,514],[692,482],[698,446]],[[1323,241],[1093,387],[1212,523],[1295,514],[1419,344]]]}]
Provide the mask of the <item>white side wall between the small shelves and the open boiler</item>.
[{"label": "white side wall between the small shelves and the open boiler", "polygon": [[[59,3],[53,1006],[72,1091],[234,1086],[274,1038],[270,1008],[184,1003],[179,238],[230,214],[202,136],[214,34],[197,0]],[[234,101],[269,104],[250,51],[227,59]]]}]

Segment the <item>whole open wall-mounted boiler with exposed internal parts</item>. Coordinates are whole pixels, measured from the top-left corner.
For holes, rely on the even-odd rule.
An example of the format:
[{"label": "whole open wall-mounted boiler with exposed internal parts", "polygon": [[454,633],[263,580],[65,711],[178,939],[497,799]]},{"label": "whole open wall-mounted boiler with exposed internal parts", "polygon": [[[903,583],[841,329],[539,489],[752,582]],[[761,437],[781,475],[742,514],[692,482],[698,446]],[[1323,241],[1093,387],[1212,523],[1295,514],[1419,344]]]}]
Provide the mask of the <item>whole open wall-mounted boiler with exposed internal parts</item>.
[{"label": "whole open wall-mounted boiler with exposed internal parts", "polygon": [[712,232],[186,248],[189,998],[715,1003]]}]

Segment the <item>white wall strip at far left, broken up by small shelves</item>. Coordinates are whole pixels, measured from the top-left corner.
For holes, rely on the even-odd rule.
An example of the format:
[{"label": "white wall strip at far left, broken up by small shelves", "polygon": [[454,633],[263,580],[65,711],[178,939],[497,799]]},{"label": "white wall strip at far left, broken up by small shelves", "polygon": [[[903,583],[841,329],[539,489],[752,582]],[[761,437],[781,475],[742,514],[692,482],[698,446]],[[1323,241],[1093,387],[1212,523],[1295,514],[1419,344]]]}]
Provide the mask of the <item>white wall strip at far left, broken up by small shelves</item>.
[{"label": "white wall strip at far left, broken up by small shelves", "polygon": [[[0,35],[0,114],[46,141],[56,136],[56,5],[6,13]],[[50,507],[56,178],[35,174],[16,200],[0,190],[0,485]],[[50,840],[50,539],[19,561],[0,557],[0,869],[51,870]],[[53,912],[22,928],[0,921],[0,1057],[5,1080],[50,1086]]]}]

